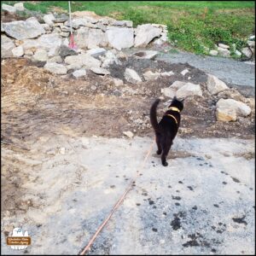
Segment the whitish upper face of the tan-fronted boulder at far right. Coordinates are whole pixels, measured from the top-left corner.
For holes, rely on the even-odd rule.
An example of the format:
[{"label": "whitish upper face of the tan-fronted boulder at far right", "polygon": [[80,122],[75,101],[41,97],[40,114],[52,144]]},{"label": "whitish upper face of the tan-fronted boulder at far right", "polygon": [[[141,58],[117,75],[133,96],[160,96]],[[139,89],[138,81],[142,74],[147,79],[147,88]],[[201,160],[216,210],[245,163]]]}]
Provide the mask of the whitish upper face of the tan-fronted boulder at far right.
[{"label": "whitish upper face of the tan-fronted boulder at far right", "polygon": [[250,107],[247,106],[247,104],[243,103],[243,102],[238,102],[236,100],[233,99],[220,99],[217,102],[217,108],[229,108],[229,109],[234,109],[236,111],[237,115],[241,115],[246,117],[247,115],[249,115],[252,110]]}]

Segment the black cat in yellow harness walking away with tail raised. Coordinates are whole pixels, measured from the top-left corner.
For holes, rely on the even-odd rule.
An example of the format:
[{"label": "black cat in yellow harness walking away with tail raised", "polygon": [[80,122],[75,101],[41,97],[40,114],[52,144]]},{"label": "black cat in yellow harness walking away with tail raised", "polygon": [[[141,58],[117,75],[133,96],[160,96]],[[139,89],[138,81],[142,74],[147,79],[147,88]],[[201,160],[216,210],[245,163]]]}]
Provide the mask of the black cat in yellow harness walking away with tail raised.
[{"label": "black cat in yellow harness walking away with tail raised", "polygon": [[[180,112],[183,110],[183,101],[179,101],[176,97],[174,97],[170,106],[168,107],[168,110],[160,120],[160,123],[158,123],[156,118],[156,108],[159,102],[160,99],[157,99],[150,108],[150,121],[155,132],[155,140],[158,148],[156,153],[162,154],[162,165],[168,166],[168,163],[166,162],[166,156],[169,153],[169,150],[172,146],[172,141],[177,134],[177,129],[179,127],[181,117]],[[169,109],[171,107],[177,108],[179,112]],[[172,116],[168,116],[167,114],[171,114],[174,118]]]}]

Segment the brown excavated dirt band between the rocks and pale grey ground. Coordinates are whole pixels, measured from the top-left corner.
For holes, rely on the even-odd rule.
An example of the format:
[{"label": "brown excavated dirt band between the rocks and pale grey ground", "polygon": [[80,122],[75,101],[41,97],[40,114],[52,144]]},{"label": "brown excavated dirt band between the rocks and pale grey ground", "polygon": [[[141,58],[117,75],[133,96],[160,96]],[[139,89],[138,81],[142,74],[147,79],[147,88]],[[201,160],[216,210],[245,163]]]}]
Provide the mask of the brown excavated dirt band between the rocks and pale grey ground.
[{"label": "brown excavated dirt band between the rocks and pale grey ground", "polygon": [[[175,80],[188,81],[180,74],[189,68],[192,83],[201,83],[205,89],[207,75],[188,64],[166,64],[161,61],[129,59],[121,66],[109,68],[114,78],[123,79],[126,67],[142,73],[152,70],[173,71],[169,78],[140,84],[116,87],[110,77],[88,72],[83,79],[71,74],[57,76],[26,59],[2,61],[2,139],[3,143],[24,144],[37,140],[40,134],[67,132],[84,136],[122,137],[123,131],[138,136],[154,135],[149,123],[149,108],[161,96],[160,89]],[[125,82],[125,80],[124,80]],[[215,105],[220,97],[247,101],[235,89],[219,96],[203,90],[203,97],[186,98],[179,130],[181,137],[239,137],[252,138],[254,134],[254,107],[247,118],[236,122],[218,122]],[[159,117],[166,109],[167,98],[160,104]],[[250,103],[247,102],[248,104]]]}]

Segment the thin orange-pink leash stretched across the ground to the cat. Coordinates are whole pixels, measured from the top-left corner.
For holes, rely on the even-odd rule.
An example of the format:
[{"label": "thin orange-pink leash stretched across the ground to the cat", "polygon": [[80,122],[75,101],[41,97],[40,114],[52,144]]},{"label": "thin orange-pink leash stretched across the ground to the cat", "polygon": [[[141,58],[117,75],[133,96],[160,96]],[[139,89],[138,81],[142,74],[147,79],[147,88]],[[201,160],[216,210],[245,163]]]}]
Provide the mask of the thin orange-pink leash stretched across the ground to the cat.
[{"label": "thin orange-pink leash stretched across the ground to the cat", "polygon": [[[148,153],[146,154],[143,163],[141,166],[139,166],[139,168],[137,170],[143,170],[143,167],[145,166],[146,161],[148,160],[148,156],[150,154],[150,152],[152,151],[154,145],[154,140],[151,143],[150,148],[148,149]],[[112,217],[113,213],[117,210],[117,208],[119,207],[119,205],[122,203],[122,201],[125,200],[125,196],[128,194],[128,192],[131,190],[133,183],[135,183],[137,177],[139,177],[140,172],[137,171],[137,175],[131,179],[131,183],[129,184],[128,188],[125,190],[125,193],[119,198],[119,201],[116,202],[116,204],[114,205],[113,209],[111,210],[111,212],[108,214],[108,217],[102,222],[102,224],[99,226],[99,228],[96,230],[96,233],[94,234],[94,236],[91,237],[89,243],[87,244],[86,247],[84,247],[84,250],[82,251],[82,253],[80,253],[79,255],[84,255],[87,251],[90,250],[90,247],[92,245],[92,243],[96,240],[96,237],[99,235],[99,233],[102,231],[102,229],[104,228],[104,226],[108,223],[108,220]]]}]

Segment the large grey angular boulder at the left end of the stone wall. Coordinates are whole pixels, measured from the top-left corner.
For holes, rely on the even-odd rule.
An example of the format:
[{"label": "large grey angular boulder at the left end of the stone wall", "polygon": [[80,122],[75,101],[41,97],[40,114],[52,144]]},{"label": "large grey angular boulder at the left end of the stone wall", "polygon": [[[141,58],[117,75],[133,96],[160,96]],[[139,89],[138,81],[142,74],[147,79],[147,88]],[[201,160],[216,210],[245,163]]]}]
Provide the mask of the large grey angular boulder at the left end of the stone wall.
[{"label": "large grey angular boulder at the left end of the stone wall", "polygon": [[45,33],[44,27],[34,17],[3,23],[3,29],[10,37],[18,40],[37,38]]}]

